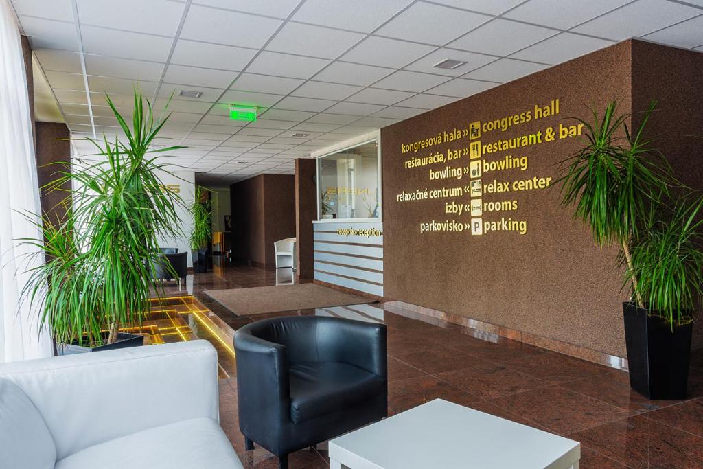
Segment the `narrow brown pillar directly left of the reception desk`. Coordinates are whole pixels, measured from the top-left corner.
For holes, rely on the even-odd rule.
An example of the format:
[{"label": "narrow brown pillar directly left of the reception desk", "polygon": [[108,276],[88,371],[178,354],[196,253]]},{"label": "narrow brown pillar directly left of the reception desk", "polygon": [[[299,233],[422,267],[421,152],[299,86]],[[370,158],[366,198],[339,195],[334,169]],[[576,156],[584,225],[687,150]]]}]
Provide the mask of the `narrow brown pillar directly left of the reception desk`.
[{"label": "narrow brown pillar directly left of the reception desk", "polygon": [[298,278],[314,278],[312,222],[317,219],[316,160],[295,160],[295,238],[297,238]]}]

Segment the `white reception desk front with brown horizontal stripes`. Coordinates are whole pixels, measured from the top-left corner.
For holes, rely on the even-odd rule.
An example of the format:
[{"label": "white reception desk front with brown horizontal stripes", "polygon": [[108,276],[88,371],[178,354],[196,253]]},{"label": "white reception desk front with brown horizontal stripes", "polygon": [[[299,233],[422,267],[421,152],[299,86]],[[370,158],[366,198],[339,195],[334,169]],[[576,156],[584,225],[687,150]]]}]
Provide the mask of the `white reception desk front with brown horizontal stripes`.
[{"label": "white reception desk front with brown horizontal stripes", "polygon": [[383,296],[383,224],[315,221],[315,280]]}]

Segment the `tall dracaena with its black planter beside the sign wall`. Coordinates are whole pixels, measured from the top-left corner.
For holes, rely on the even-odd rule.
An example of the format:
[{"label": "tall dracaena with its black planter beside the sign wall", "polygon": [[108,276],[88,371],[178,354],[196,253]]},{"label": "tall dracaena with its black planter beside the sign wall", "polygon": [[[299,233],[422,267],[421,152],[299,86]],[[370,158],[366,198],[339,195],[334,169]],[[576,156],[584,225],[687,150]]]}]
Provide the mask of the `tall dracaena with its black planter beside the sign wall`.
[{"label": "tall dracaena with its black planter beside the sign wall", "polygon": [[[598,245],[617,243],[631,300],[624,327],[631,387],[648,399],[682,399],[688,383],[692,311],[703,293],[696,198],[645,140],[652,101],[636,132],[616,103],[581,121],[586,146],[570,158],[562,204],[588,224]],[[688,195],[687,195],[688,193]]]}]

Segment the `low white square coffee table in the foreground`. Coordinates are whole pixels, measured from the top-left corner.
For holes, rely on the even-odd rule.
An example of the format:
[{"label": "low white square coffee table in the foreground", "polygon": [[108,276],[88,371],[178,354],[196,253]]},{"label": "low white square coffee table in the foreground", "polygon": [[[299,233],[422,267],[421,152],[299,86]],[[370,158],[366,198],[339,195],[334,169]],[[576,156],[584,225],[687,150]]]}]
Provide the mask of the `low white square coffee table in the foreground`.
[{"label": "low white square coffee table in the foreground", "polygon": [[435,399],[330,441],[330,469],[578,469],[571,439]]}]

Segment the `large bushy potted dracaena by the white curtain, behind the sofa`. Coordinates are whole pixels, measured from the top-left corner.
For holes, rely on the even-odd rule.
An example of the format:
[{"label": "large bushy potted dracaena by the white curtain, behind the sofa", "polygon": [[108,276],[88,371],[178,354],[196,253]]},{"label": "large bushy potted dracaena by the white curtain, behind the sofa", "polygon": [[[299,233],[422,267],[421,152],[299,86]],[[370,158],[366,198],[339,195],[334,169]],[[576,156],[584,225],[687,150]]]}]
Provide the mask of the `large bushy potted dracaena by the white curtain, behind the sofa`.
[{"label": "large bushy potted dracaena by the white curtain, behind the sofa", "polygon": [[[25,239],[46,262],[30,271],[23,296],[41,309],[41,328],[51,330],[57,351],[75,353],[143,344],[138,331],[160,283],[153,271],[160,262],[157,234],[176,236],[178,195],[162,191],[166,172],[151,143],[167,121],[155,119],[141,92],[134,91],[131,126],[117,112],[124,142],[89,139],[91,158],[60,163],[48,191],[67,191],[65,217],[49,220],[27,214],[43,239]],[[66,186],[70,188],[65,188]]]}]

